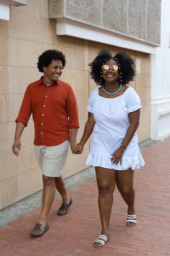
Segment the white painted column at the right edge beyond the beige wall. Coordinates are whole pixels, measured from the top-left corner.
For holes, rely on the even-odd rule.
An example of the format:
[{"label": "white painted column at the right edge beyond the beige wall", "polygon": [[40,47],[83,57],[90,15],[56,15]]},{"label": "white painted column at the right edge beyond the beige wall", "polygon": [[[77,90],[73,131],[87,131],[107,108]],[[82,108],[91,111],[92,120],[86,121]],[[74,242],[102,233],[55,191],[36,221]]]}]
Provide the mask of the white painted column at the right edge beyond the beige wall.
[{"label": "white painted column at the right edge beyond the beige wall", "polygon": [[[156,20],[155,20],[156,26]],[[170,1],[161,1],[161,47],[152,55],[151,138],[170,136]]]}]

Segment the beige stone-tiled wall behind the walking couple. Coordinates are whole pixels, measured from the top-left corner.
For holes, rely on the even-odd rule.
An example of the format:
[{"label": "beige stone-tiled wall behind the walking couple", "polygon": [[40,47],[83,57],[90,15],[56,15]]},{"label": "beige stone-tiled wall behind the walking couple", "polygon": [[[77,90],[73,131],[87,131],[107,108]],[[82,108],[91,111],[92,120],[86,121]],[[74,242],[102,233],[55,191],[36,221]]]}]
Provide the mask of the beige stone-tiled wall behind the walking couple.
[{"label": "beige stone-tiled wall behind the walking couple", "polygon": [[[96,85],[89,76],[88,63],[102,48],[113,55],[124,50],[136,63],[137,74],[130,84],[141,98],[141,119],[137,130],[139,142],[150,138],[150,54],[105,45],[69,36],[57,36],[56,20],[49,19],[47,0],[28,0],[27,5],[10,8],[10,20],[0,20],[0,209],[3,209],[42,189],[42,175],[35,161],[33,148],[33,120],[29,120],[21,137],[19,157],[12,153],[15,119],[24,91],[29,83],[42,75],[38,72],[38,56],[47,49],[57,49],[66,56],[66,67],[61,80],[70,83],[75,91],[82,136],[88,117],[86,106]],[[81,155],[69,150],[62,175],[64,178],[88,166],[85,160],[90,150],[88,141]]]}]

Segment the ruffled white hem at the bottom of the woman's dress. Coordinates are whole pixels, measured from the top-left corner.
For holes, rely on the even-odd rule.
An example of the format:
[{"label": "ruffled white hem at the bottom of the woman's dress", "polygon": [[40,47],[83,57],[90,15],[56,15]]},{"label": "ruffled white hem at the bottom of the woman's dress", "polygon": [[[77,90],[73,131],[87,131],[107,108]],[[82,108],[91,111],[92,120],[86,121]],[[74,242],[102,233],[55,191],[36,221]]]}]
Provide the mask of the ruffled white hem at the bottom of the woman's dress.
[{"label": "ruffled white hem at the bottom of the woman's dress", "polygon": [[102,154],[90,153],[86,160],[87,165],[99,166],[107,169],[115,169],[118,171],[123,171],[131,168],[132,170],[140,169],[141,166],[144,166],[145,162],[141,155],[135,158],[124,158],[122,163],[113,164],[111,157]]}]

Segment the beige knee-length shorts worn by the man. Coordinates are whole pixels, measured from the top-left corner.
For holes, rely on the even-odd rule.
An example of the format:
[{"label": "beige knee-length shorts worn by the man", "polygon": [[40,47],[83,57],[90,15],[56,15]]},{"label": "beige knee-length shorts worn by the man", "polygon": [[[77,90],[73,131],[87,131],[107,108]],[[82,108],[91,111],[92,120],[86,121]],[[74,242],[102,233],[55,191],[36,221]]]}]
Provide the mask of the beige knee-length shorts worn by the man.
[{"label": "beige knee-length shorts worn by the man", "polygon": [[60,177],[60,173],[66,162],[69,148],[66,140],[57,146],[35,146],[35,159],[37,160],[42,174],[48,177]]}]

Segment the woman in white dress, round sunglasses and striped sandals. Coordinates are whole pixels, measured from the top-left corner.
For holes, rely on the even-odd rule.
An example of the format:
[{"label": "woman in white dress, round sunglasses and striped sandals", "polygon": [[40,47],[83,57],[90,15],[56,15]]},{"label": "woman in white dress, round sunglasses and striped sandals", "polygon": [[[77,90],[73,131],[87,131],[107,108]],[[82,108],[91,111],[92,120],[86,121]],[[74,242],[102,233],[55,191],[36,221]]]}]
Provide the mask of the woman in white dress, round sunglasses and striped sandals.
[{"label": "woman in white dress, round sunglasses and striped sandals", "polygon": [[127,86],[135,76],[135,64],[128,54],[118,52],[112,57],[110,51],[102,49],[89,66],[91,78],[100,87],[89,97],[88,120],[78,146],[83,150],[93,132],[86,164],[95,166],[97,177],[102,233],[93,245],[99,248],[110,239],[115,185],[128,205],[128,227],[137,223],[133,175],[135,168],[144,166],[136,134],[141,102],[135,90]]}]

